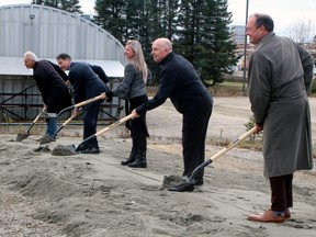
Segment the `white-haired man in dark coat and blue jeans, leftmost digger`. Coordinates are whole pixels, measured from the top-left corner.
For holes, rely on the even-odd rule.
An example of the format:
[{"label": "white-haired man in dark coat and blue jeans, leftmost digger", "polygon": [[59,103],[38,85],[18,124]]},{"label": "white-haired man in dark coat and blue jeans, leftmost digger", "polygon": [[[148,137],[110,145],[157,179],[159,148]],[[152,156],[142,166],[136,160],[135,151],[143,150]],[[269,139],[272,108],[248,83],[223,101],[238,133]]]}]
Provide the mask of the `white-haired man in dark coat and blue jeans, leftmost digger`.
[{"label": "white-haired man in dark coat and blue jeans, leftmost digger", "polygon": [[56,113],[71,105],[71,95],[69,94],[66,81],[67,75],[52,61],[36,57],[33,52],[24,54],[24,65],[33,69],[33,77],[42,94],[46,114],[46,135],[40,139],[41,144],[55,140],[54,134],[57,131]]}]

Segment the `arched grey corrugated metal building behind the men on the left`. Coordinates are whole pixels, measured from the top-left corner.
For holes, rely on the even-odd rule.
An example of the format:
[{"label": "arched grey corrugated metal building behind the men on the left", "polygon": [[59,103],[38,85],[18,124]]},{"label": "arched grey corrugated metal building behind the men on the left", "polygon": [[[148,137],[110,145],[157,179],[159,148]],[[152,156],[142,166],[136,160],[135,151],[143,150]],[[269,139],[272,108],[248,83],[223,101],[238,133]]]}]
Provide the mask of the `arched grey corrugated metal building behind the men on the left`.
[{"label": "arched grey corrugated metal building behind the men on the left", "polygon": [[[124,76],[124,46],[91,21],[37,4],[0,7],[1,122],[3,117],[31,120],[41,109],[42,98],[32,87],[33,71],[23,64],[26,50],[53,63],[59,53],[67,53],[74,61],[100,65],[111,78],[110,87]],[[120,105],[116,99],[104,110],[115,115]]]}]

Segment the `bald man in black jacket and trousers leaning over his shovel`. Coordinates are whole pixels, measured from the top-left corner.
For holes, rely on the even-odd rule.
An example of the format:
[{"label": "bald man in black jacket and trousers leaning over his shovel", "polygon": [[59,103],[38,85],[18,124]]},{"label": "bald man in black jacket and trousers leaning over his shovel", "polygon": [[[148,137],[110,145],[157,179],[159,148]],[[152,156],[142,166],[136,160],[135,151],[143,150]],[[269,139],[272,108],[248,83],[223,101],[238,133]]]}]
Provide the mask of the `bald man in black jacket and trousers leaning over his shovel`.
[{"label": "bald man in black jacket and trousers leaning over his shovel", "polygon": [[[168,38],[157,38],[151,46],[154,60],[161,66],[160,86],[157,94],[132,111],[133,117],[153,110],[170,98],[173,106],[183,115],[182,154],[183,176],[189,177],[205,159],[205,137],[212,114],[213,99],[200,79],[193,65],[172,52]],[[201,171],[195,185],[202,185]]]}]

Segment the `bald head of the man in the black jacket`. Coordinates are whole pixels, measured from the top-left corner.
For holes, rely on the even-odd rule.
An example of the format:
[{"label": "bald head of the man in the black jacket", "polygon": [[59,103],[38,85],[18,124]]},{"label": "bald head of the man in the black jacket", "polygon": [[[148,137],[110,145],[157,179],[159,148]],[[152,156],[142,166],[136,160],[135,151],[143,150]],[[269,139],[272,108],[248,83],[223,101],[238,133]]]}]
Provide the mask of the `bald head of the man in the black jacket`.
[{"label": "bald head of the man in the black jacket", "polygon": [[151,46],[151,55],[156,63],[163,60],[172,52],[172,43],[165,37],[157,38]]}]

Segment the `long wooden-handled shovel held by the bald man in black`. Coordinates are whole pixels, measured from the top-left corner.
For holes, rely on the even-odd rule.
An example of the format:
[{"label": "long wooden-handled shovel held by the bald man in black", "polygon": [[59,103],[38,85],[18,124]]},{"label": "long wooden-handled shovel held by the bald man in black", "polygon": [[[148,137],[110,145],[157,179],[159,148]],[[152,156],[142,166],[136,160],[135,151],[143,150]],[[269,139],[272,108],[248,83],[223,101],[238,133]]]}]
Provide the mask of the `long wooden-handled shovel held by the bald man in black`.
[{"label": "long wooden-handled shovel held by the bald man in black", "polygon": [[[108,131],[110,131],[110,129],[119,126],[119,125],[122,124],[122,123],[125,123],[126,121],[128,121],[128,120],[131,120],[131,119],[132,119],[132,114],[129,114],[129,115],[127,115],[127,116],[125,116],[125,117],[122,117],[121,120],[116,121],[115,123],[111,124],[110,126],[104,127],[103,129],[97,132],[95,134],[87,137],[87,138],[86,138],[84,140],[82,140],[77,147],[72,144],[72,145],[70,145],[70,146],[66,146],[66,147],[60,147],[60,146],[59,146],[59,147],[56,147],[56,148],[63,150],[63,153],[65,153],[65,154],[67,154],[67,155],[68,155],[68,154],[69,154],[69,155],[78,154],[78,153],[80,153],[81,146],[82,146],[83,144],[86,144],[88,140],[90,140],[90,139],[92,139],[92,138],[94,138],[94,137],[98,137],[98,136],[104,134],[105,132],[108,132]],[[53,150],[52,154],[53,154],[53,155],[54,155],[54,154],[58,154],[58,155],[59,155],[58,150]],[[59,155],[59,156],[60,156],[60,155]]]}]

